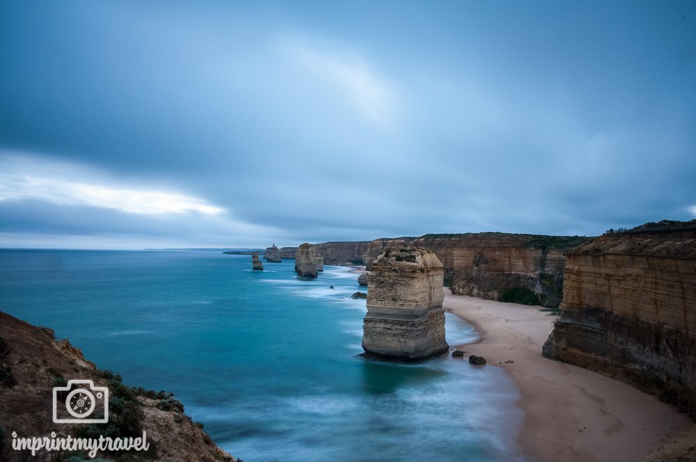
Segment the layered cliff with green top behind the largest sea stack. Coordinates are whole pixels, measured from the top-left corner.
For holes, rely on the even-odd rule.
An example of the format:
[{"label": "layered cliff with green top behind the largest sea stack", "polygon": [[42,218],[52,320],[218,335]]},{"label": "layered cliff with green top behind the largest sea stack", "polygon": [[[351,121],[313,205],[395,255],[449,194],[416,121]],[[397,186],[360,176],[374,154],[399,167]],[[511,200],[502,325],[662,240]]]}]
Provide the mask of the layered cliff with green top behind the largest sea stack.
[{"label": "layered cliff with green top behind the largest sea stack", "polygon": [[[434,252],[444,265],[452,293],[503,301],[529,300],[556,307],[562,298],[564,251],[585,237],[482,232],[426,234],[376,239],[367,250],[367,269],[384,248],[411,243]],[[516,297],[523,298],[517,300]],[[526,303],[526,302],[525,302]]]}]

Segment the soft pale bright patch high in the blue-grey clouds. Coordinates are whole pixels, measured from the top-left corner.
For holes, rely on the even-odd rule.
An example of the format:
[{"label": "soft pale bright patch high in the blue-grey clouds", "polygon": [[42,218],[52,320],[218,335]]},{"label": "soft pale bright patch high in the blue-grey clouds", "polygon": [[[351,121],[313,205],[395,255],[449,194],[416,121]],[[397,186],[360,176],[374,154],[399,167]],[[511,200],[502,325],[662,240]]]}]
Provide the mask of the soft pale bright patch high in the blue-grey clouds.
[{"label": "soft pale bright patch high in the blue-grey clouds", "polygon": [[390,122],[393,94],[383,79],[358,56],[335,56],[296,44],[294,52],[310,70],[340,86],[360,111],[373,122]]}]

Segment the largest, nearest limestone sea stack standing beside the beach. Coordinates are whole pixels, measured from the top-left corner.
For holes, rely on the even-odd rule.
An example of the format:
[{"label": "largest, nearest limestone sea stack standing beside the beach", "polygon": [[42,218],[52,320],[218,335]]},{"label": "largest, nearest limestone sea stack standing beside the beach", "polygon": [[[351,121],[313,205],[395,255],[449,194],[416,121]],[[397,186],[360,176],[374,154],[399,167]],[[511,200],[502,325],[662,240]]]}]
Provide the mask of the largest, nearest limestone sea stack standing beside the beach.
[{"label": "largest, nearest limestone sea stack standing beside the beach", "polygon": [[420,360],[448,351],[442,287],[443,264],[434,253],[410,244],[386,248],[367,284],[365,353]]}]

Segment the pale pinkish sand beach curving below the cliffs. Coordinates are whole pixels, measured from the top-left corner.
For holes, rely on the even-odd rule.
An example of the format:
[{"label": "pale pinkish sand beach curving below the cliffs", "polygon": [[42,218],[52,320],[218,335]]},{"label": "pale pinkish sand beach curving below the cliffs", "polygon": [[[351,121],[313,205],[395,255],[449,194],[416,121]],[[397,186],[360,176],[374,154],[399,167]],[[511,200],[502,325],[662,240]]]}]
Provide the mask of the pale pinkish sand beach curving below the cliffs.
[{"label": "pale pinkish sand beach curving below the cliffs", "polygon": [[[540,307],[454,296],[445,310],[470,322],[480,342],[459,346],[503,367],[525,417],[519,443],[541,461],[642,461],[693,424],[686,414],[626,383],[548,360],[541,345],[556,317]],[[505,363],[512,360],[514,363]]]}]

